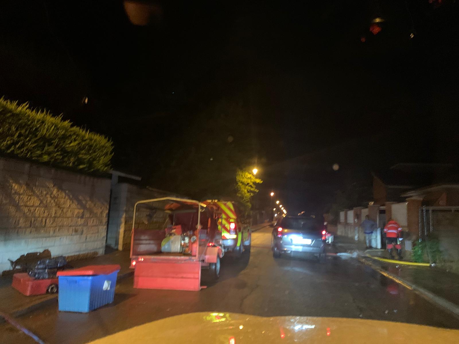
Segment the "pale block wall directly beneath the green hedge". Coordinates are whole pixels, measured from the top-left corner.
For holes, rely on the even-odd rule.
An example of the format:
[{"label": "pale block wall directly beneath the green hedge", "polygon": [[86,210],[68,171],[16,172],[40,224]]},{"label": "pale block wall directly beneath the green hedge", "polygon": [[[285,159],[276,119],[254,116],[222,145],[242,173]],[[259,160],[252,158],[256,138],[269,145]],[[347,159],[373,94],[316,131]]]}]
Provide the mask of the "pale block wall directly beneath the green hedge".
[{"label": "pale block wall directly beneath the green hedge", "polygon": [[0,157],[0,271],[8,259],[102,254],[110,179]]}]

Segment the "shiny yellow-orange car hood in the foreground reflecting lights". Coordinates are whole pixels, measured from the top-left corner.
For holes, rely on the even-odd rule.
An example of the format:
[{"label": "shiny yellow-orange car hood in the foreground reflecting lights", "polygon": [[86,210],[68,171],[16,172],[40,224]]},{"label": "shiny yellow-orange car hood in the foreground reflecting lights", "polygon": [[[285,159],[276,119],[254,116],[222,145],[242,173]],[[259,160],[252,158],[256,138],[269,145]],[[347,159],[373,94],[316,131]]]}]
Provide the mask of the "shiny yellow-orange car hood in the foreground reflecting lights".
[{"label": "shiny yellow-orange car hood in the foreground reflecting lights", "polygon": [[459,330],[377,320],[190,313],[132,327],[91,344],[455,343]]}]

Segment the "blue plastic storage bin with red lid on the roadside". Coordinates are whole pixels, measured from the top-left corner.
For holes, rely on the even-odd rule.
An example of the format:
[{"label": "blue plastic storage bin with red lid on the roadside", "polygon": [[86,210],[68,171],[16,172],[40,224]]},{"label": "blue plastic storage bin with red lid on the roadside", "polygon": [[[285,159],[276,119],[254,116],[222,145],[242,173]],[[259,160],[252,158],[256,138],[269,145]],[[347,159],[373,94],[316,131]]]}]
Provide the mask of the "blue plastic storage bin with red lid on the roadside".
[{"label": "blue plastic storage bin with red lid on the roadside", "polygon": [[113,302],[119,265],[92,265],[57,272],[59,311],[87,313]]}]

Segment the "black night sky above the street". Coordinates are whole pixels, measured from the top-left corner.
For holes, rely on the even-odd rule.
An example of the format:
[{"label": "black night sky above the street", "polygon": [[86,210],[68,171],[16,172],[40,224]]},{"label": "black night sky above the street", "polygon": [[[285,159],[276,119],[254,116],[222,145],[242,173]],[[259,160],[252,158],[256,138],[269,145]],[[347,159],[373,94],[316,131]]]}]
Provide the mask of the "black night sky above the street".
[{"label": "black night sky above the street", "polygon": [[[2,1],[0,94],[107,135],[114,167],[144,177],[197,113],[243,99],[256,113],[245,130],[262,191],[284,198],[279,166],[320,150],[327,158],[309,164],[331,170],[336,159],[343,174],[459,158],[455,1],[128,3],[146,25],[124,5]],[[350,141],[358,159],[333,156]],[[359,150],[369,142],[372,153]]]}]

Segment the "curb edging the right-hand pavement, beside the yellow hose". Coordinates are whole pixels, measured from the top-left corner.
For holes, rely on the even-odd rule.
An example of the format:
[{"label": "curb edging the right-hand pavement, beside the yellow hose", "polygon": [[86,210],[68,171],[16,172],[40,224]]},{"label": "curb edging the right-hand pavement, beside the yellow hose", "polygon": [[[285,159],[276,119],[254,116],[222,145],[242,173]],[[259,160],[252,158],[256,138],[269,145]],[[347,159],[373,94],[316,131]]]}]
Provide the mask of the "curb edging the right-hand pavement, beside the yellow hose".
[{"label": "curb edging the right-hand pavement, beside the yellow hose", "polygon": [[371,261],[367,261],[362,257],[358,257],[357,259],[361,263],[371,267],[373,270],[375,270],[375,271],[381,273],[382,275],[392,279],[393,281],[403,285],[403,287],[405,287],[405,288],[407,288],[409,290],[413,290],[416,294],[422,296],[425,300],[430,301],[431,303],[436,304],[436,305],[444,308],[447,311],[450,311],[456,317],[459,317],[459,306],[458,305],[455,305],[452,302],[450,302],[448,300],[445,300],[442,297],[440,297],[440,296],[430,292],[429,290],[424,289],[424,288],[422,288],[422,287],[420,287],[420,286],[418,286],[418,285],[416,285],[414,283],[408,282],[407,280],[404,280],[403,278],[397,277],[394,274],[392,274],[391,272],[387,272],[387,271],[381,269],[379,266],[373,264]]}]

